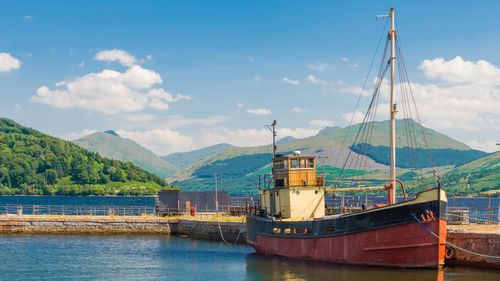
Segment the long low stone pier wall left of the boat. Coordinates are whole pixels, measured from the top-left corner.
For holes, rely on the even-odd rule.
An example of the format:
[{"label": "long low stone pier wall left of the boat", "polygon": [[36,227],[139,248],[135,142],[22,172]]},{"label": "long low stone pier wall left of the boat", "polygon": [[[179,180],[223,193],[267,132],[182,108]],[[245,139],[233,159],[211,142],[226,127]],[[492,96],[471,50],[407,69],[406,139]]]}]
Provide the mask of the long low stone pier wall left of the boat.
[{"label": "long low stone pier wall left of the boat", "polygon": [[244,227],[242,218],[219,222],[213,217],[0,215],[1,234],[172,234],[245,243]]}]

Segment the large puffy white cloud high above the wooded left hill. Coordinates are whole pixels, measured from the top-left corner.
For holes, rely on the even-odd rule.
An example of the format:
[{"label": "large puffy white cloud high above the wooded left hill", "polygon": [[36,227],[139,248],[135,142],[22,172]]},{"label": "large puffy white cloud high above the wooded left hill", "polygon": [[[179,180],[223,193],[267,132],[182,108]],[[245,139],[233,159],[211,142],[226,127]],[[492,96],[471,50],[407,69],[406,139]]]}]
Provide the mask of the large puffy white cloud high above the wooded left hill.
[{"label": "large puffy white cloud high above the wooded left hill", "polygon": [[32,100],[57,108],[79,107],[108,114],[136,112],[149,106],[165,110],[179,100],[190,100],[187,95],[172,96],[162,88],[158,73],[133,65],[124,72],[105,69],[81,77],[64,80],[51,90],[39,87]]}]

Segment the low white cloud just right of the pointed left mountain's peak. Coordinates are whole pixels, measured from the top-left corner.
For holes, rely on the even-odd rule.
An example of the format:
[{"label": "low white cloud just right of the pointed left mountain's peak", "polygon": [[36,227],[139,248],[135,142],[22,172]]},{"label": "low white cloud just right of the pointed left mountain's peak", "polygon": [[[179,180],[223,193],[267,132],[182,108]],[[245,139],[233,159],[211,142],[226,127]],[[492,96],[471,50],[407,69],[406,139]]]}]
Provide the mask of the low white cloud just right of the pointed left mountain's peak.
[{"label": "low white cloud just right of the pointed left mountain's peak", "polygon": [[126,131],[119,129],[117,133],[124,138],[129,138],[139,143],[157,155],[189,151],[195,148],[193,138],[168,128],[149,131]]}]

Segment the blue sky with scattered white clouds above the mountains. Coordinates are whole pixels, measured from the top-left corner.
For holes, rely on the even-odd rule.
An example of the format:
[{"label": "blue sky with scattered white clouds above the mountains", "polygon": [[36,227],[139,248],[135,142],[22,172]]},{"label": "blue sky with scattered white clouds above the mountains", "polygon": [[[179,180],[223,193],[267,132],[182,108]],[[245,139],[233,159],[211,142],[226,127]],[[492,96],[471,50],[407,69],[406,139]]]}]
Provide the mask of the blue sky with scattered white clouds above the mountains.
[{"label": "blue sky with scattered white clouds above the mountains", "polygon": [[158,155],[344,127],[390,7],[423,124],[498,150],[498,1],[1,1],[0,116]]}]

